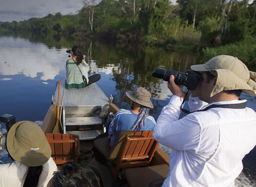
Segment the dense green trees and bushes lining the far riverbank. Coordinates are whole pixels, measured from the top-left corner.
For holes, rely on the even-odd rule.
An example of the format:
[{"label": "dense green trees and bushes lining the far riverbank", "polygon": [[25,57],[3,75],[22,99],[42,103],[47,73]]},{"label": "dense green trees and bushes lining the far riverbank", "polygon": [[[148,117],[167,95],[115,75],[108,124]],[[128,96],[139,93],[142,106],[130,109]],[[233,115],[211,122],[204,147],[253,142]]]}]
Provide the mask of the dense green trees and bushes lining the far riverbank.
[{"label": "dense green trees and bushes lining the far riverbank", "polygon": [[[176,2],[102,0],[95,4],[95,0],[84,0],[75,15],[56,13],[20,22],[0,22],[0,31],[93,36],[168,49],[202,49],[232,43],[237,46],[239,41],[256,37],[256,0],[251,4],[248,0]],[[204,52],[217,54],[209,49]]]}]

